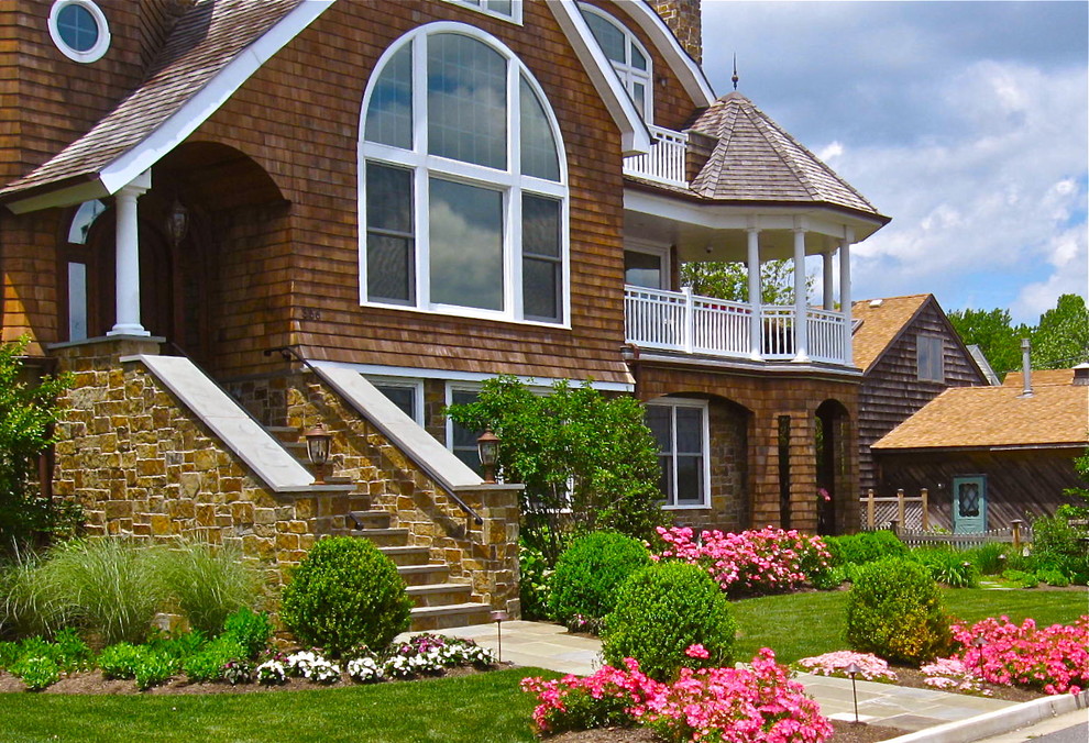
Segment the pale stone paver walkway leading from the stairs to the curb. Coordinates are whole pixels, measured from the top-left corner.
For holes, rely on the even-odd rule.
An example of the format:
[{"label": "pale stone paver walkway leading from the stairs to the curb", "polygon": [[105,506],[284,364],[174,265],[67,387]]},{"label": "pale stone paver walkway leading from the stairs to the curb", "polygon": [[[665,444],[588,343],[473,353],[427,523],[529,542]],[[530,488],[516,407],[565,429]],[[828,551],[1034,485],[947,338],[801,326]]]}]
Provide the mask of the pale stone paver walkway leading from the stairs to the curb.
[{"label": "pale stone paver walkway leading from the stairs to the curb", "polygon": [[[442,630],[442,634],[475,640],[498,648],[495,624],[477,624]],[[521,666],[548,668],[585,676],[601,667],[601,642],[570,635],[564,628],[542,622],[503,623],[503,661]],[[850,680],[799,674],[798,680],[821,705],[822,712],[835,720],[855,719]],[[859,720],[898,728],[905,733],[1011,707],[1012,702],[947,694],[936,689],[913,689],[893,684],[856,681]]]}]

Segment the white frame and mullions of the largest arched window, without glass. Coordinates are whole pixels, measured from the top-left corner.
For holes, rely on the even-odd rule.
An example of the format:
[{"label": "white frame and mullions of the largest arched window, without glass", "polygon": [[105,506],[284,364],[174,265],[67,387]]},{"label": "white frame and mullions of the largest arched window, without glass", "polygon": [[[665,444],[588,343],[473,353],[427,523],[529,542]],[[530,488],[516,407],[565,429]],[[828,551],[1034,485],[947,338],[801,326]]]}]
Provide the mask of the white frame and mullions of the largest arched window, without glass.
[{"label": "white frame and mullions of the largest arched window, without glass", "polygon": [[[507,130],[507,169],[499,170],[483,165],[463,163],[438,155],[428,154],[427,142],[427,47],[425,43],[416,43],[420,38],[441,33],[457,33],[475,38],[501,54],[507,63],[507,106],[510,111]],[[374,142],[367,142],[366,113],[371,104],[371,96],[377,85],[378,77],[386,63],[405,44],[415,44],[413,48],[413,149],[402,149]],[[544,115],[556,138],[559,159],[560,180],[551,181],[542,178],[522,175],[521,170],[521,117],[515,111],[519,99],[521,78],[525,77],[530,89],[542,102]],[[382,54],[374,67],[374,73],[367,81],[360,111],[356,192],[359,208],[359,267],[360,267],[360,304],[363,307],[388,310],[415,310],[432,314],[475,318],[480,320],[497,320],[518,322],[546,328],[571,328],[571,204],[568,189],[568,163],[563,136],[556,113],[544,96],[543,89],[528,67],[498,38],[463,23],[442,21],[419,26],[403,35]],[[413,203],[415,229],[415,303],[403,304],[393,302],[371,301],[367,297],[366,276],[366,163],[409,168],[413,170]],[[517,174],[517,175],[516,175]],[[446,180],[480,186],[503,192],[504,234],[503,234],[503,310],[461,307],[455,304],[432,303],[430,301],[430,222],[426,206],[429,203],[428,180],[437,176]],[[536,318],[527,319],[522,309],[521,291],[521,195],[538,195],[554,198],[560,203],[560,280],[563,284],[560,301],[560,318],[554,322]],[[517,196],[518,198],[513,198]]]}]

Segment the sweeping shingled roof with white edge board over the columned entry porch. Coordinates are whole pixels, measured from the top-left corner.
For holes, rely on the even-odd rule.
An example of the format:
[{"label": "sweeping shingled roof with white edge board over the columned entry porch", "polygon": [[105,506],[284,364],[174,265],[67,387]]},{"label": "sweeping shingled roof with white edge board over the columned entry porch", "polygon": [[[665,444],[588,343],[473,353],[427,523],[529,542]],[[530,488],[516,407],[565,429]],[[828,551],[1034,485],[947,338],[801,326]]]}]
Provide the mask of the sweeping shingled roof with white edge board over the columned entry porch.
[{"label": "sweeping shingled roof with white edge board over the columned entry porch", "polygon": [[89,132],[0,189],[0,200],[14,201],[19,212],[54,206],[26,198],[43,190],[70,187],[69,203],[116,193],[188,136],[331,2],[198,2],[178,19],[144,82]]}]

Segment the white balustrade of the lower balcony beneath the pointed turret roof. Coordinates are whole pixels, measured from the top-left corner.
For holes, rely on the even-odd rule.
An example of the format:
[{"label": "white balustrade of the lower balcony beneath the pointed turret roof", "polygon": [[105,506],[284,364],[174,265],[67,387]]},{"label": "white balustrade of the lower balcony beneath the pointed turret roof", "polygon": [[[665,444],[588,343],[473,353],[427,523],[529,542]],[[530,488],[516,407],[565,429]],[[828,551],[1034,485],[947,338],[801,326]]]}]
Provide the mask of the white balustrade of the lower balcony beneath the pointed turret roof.
[{"label": "white balustrade of the lower balcony beneath the pointed turret roof", "polygon": [[[664,291],[627,286],[625,334],[641,348],[680,351],[726,358],[752,358],[752,307],[700,297],[691,291]],[[806,308],[807,356],[814,362],[849,365],[846,321],[839,312]],[[763,361],[790,361],[798,354],[793,307],[760,308],[760,353]]]}]

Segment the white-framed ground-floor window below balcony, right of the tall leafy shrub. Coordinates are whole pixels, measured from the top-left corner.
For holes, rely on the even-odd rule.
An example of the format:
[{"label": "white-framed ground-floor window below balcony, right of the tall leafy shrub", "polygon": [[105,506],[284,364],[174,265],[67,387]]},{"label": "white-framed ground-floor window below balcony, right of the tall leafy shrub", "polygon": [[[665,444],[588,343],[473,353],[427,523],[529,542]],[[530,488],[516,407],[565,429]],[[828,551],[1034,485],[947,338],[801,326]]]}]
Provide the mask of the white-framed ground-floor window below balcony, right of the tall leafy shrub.
[{"label": "white-framed ground-floor window below balcony, right of the tall leafy shrub", "polygon": [[666,508],[711,504],[711,426],[706,400],[659,398],[647,403],[647,426],[658,442]]}]

